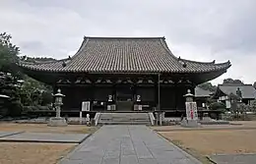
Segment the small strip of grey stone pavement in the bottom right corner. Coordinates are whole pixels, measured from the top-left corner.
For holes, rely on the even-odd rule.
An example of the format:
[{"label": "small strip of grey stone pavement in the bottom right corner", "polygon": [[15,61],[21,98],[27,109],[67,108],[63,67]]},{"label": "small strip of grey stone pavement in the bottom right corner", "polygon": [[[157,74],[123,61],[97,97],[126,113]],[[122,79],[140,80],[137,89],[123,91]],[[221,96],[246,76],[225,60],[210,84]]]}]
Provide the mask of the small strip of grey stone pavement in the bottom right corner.
[{"label": "small strip of grey stone pavement in the bottom right corner", "polygon": [[217,164],[254,164],[256,163],[256,154],[212,155],[210,159]]}]

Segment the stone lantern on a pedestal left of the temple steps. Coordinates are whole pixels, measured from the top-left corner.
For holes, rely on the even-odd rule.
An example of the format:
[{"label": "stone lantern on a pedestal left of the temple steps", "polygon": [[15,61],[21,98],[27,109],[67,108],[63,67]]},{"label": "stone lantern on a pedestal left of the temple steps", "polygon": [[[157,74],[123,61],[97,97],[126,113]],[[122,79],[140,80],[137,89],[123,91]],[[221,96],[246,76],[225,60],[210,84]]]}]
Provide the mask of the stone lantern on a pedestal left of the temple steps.
[{"label": "stone lantern on a pedestal left of the temple steps", "polygon": [[57,93],[54,94],[55,102],[54,106],[56,109],[56,117],[50,118],[48,126],[50,127],[65,127],[67,122],[65,118],[60,117],[61,106],[63,105],[62,99],[65,95],[61,93],[61,90],[58,89]]}]

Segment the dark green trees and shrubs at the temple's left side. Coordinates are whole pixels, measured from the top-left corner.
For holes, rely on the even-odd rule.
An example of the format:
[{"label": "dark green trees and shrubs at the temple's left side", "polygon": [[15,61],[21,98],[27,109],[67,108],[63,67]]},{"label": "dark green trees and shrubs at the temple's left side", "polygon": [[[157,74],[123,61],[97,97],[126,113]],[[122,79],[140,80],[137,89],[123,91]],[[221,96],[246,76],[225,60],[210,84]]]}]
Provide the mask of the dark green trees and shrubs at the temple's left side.
[{"label": "dark green trees and shrubs at the temple's left side", "polygon": [[[19,72],[17,67],[20,60],[19,47],[11,43],[11,38],[10,34],[0,33],[0,93],[10,96],[10,99],[2,105],[0,113],[15,117],[28,109],[24,106],[41,106],[51,103],[52,89]],[[53,60],[29,57],[27,59]],[[35,109],[38,108],[43,107]]]}]

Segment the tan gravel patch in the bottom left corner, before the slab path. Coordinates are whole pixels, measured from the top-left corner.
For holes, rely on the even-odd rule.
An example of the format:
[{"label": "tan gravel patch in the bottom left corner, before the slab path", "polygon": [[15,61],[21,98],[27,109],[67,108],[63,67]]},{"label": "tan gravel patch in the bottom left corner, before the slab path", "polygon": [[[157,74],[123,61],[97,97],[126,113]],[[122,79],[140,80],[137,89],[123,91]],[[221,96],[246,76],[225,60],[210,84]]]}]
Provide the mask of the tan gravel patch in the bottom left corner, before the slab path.
[{"label": "tan gravel patch in the bottom left corner, before the slab path", "polygon": [[55,164],[77,144],[1,142],[1,164]]}]

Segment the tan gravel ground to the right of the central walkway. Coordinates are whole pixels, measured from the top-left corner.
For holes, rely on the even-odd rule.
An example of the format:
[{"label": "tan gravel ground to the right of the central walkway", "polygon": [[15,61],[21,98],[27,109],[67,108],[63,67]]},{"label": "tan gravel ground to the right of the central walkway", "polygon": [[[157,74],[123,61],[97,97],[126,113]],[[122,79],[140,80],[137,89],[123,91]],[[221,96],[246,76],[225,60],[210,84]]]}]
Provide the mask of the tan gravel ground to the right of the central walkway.
[{"label": "tan gravel ground to the right of the central walkway", "polygon": [[256,130],[159,132],[202,155],[256,153]]}]

